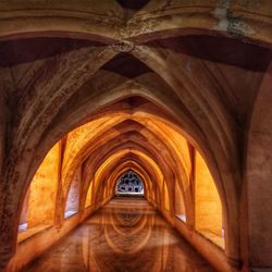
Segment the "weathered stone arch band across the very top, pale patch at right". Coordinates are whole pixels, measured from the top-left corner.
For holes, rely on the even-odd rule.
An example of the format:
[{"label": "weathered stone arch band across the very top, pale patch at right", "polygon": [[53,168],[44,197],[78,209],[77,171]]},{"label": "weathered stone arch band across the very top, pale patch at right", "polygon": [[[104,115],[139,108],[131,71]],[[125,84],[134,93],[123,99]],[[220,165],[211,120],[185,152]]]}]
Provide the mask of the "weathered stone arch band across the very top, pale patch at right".
[{"label": "weathered stone arch band across the very top, pale patch at right", "polygon": [[[112,10],[110,18],[104,12],[108,5]],[[201,0],[189,4],[176,0],[166,5],[162,1],[153,0],[134,14],[125,25],[122,25],[121,20],[122,8],[115,1],[96,1],[96,4],[86,4],[85,1],[78,1],[76,4],[71,2],[66,3],[65,9],[62,4],[54,2],[50,9],[54,16],[50,17],[42,2],[32,2],[30,7],[32,9],[27,2],[3,1],[1,36],[34,36],[37,33],[44,36],[77,34],[85,38],[92,35],[97,39],[100,38],[108,42],[124,38],[143,42],[143,40],[146,41],[159,35],[161,37],[174,36],[178,33],[184,35],[184,33],[218,32],[271,42],[269,32],[271,24],[267,18],[270,15],[268,0],[262,4],[220,1],[209,2],[205,5]],[[9,14],[10,10],[13,10],[13,16]],[[106,17],[107,20],[104,20]],[[51,24],[48,23],[49,18]],[[34,25],[35,27],[33,27]]]}]

